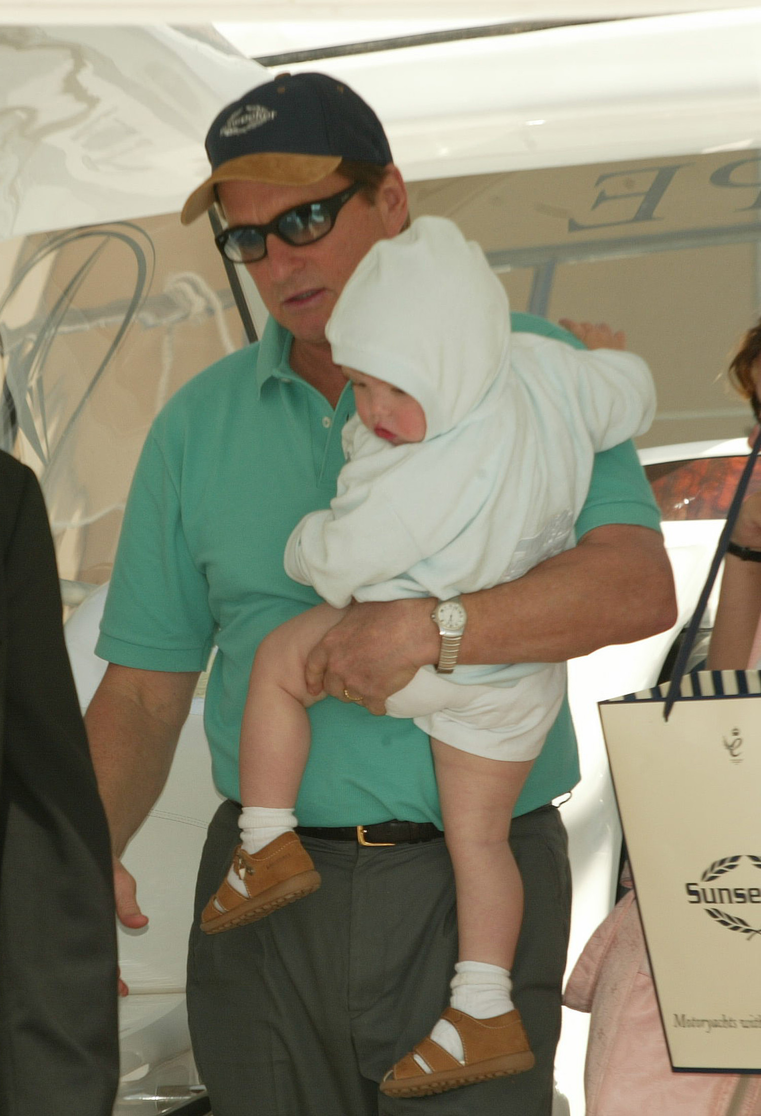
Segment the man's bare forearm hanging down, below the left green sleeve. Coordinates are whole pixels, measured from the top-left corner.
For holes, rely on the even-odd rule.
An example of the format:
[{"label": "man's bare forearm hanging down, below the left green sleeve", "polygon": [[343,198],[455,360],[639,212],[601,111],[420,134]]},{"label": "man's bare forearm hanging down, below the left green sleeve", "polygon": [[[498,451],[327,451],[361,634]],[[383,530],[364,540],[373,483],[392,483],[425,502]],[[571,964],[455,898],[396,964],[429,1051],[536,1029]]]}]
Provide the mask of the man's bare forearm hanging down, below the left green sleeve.
[{"label": "man's bare forearm hanging down, below the left green sleeve", "polygon": [[166,781],[198,674],[109,665],[85,723],[115,856]]}]

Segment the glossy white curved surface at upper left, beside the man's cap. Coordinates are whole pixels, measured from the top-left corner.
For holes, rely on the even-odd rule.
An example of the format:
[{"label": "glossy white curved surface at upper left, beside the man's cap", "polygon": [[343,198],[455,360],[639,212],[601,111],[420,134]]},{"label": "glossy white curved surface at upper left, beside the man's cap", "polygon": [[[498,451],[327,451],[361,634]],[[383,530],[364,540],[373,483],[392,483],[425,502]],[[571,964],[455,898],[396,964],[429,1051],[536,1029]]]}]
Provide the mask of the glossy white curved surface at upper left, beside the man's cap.
[{"label": "glossy white curved surface at upper left, beside the man's cap", "polygon": [[170,27],[0,27],[0,239],[176,211],[219,108],[269,76]]}]

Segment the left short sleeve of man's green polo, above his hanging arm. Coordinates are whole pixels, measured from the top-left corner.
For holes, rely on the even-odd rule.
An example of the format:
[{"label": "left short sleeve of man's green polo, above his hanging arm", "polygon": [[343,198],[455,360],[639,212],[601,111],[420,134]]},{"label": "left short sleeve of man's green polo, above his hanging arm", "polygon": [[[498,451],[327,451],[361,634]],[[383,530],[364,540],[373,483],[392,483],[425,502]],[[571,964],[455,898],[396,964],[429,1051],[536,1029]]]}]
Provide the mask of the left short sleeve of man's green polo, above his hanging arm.
[{"label": "left short sleeve of man's green polo, above his hanging arm", "polygon": [[180,491],[180,469],[154,424],[129,491],[96,645],[112,663],[153,671],[206,665],[214,619],[183,531]]}]

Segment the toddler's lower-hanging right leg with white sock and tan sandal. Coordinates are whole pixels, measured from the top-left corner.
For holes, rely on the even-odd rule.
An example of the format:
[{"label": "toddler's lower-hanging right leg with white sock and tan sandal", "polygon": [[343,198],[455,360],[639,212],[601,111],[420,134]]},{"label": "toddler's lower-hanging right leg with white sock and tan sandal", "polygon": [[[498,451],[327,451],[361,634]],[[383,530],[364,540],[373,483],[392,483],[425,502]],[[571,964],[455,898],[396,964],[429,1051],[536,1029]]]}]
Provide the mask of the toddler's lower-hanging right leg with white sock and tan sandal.
[{"label": "toddler's lower-hanging right leg with white sock and tan sandal", "polygon": [[433,738],[431,747],[457,893],[460,960],[444,1016],[380,1083],[392,1097],[426,1096],[533,1066],[511,997],[523,885],[508,845],[532,761],[487,760]]}]

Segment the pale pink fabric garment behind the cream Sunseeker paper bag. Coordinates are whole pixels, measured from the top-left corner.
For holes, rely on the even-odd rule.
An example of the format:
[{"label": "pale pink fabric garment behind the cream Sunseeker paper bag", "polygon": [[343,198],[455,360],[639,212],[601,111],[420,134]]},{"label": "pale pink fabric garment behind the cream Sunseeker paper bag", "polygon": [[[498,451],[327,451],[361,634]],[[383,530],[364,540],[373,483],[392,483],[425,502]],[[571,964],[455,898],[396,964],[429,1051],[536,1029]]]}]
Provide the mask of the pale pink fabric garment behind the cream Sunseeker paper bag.
[{"label": "pale pink fabric garment behind the cream Sunseeker paper bag", "polygon": [[563,1002],[591,1012],[587,1116],[761,1116],[761,1076],[672,1070],[633,891],[585,946]]}]

